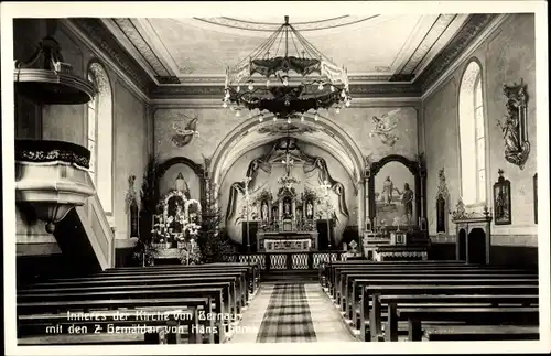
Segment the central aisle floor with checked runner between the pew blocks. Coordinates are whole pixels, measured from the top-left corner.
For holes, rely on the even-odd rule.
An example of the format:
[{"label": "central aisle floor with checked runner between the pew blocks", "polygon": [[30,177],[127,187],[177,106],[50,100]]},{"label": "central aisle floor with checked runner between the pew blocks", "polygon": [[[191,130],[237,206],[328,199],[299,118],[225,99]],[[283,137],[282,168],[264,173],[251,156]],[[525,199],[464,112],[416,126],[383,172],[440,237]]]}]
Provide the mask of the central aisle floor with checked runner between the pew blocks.
[{"label": "central aisle floor with checked runner between the pew blocks", "polygon": [[240,343],[354,342],[318,283],[262,283],[229,341]]}]

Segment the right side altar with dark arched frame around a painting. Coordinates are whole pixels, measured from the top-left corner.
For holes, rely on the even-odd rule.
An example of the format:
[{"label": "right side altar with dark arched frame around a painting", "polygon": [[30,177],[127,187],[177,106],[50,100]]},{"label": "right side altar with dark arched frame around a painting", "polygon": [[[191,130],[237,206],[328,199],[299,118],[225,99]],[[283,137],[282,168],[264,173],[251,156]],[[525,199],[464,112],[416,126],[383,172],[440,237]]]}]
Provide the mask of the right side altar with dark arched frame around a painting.
[{"label": "right side altar with dark arched frame around a painting", "polygon": [[425,169],[422,157],[410,161],[391,154],[372,162],[368,175],[368,218],[364,256],[382,260],[426,260]]}]

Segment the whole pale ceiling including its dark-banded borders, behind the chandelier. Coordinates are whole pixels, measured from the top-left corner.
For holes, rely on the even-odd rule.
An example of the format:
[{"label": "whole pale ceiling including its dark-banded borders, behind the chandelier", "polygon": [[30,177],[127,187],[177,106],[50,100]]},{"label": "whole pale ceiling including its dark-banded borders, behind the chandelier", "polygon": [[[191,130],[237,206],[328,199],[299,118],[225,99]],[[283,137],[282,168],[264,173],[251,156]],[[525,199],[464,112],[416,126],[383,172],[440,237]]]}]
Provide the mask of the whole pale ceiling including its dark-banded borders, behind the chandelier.
[{"label": "whole pale ceiling including its dark-banded borders, behind the chandelier", "polygon": [[[494,18],[291,14],[290,23],[317,50],[347,68],[355,97],[419,96]],[[226,67],[247,58],[283,19],[117,18],[71,22],[99,47],[107,44],[117,61],[131,61],[126,63],[127,72],[141,80],[154,99],[219,94]]]}]

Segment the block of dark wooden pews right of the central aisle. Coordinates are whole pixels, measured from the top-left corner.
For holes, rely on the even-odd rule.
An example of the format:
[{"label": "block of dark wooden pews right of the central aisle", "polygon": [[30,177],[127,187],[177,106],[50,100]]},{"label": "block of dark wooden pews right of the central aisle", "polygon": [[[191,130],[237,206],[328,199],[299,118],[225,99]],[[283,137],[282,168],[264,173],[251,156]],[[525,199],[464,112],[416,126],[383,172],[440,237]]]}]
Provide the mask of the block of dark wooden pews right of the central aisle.
[{"label": "block of dark wooden pews right of the central aisle", "polygon": [[360,341],[538,339],[538,273],[461,261],[337,261],[320,283]]}]

